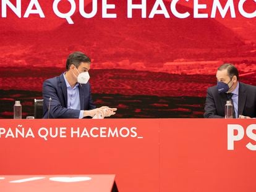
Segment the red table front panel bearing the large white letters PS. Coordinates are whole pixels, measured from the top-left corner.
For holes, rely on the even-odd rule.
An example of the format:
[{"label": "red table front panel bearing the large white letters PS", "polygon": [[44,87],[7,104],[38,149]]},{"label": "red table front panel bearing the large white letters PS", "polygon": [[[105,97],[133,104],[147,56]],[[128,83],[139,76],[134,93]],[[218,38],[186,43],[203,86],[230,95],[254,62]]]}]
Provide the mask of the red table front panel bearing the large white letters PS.
[{"label": "red table front panel bearing the large white letters PS", "polygon": [[[173,119],[160,123],[160,191],[255,191],[256,151],[246,134],[228,150],[228,124],[255,120]],[[256,133],[256,131],[255,131]],[[236,135],[237,133],[235,133]]]}]

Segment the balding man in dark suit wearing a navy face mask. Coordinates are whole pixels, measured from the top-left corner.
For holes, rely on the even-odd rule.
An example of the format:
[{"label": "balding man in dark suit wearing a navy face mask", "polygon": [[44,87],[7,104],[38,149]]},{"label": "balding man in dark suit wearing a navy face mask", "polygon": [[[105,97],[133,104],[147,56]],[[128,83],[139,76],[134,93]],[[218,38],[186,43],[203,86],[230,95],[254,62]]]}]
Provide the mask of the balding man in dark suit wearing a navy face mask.
[{"label": "balding man in dark suit wearing a navy face mask", "polygon": [[239,82],[239,73],[231,64],[221,65],[216,73],[217,85],[207,90],[205,118],[224,118],[225,104],[233,102],[234,118],[256,117],[256,86]]}]

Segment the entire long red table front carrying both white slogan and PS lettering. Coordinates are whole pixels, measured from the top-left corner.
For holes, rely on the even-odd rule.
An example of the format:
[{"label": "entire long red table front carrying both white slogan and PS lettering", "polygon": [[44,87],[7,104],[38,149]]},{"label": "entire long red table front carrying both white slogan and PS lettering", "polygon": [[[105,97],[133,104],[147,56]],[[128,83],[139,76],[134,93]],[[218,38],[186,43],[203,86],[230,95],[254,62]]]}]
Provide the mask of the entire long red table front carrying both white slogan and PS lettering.
[{"label": "entire long red table front carrying both white slogan and PS lettering", "polygon": [[0,120],[0,136],[0,175],[114,174],[125,192],[256,190],[255,119]]}]

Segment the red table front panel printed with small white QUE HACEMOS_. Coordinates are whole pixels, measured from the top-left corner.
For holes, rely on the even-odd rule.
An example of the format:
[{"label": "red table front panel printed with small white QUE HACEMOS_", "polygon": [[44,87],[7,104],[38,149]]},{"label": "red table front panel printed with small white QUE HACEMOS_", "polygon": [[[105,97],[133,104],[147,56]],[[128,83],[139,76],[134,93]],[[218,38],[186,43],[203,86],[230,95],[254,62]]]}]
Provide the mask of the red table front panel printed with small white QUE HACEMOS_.
[{"label": "red table front panel printed with small white QUE HACEMOS_", "polygon": [[[138,191],[142,186],[140,191],[158,191],[158,120],[0,120],[0,128],[15,130],[19,125],[26,130],[31,127],[35,138],[5,138],[1,135],[0,175],[114,174],[119,191]],[[58,135],[45,140],[38,136],[42,127],[48,130],[66,127],[66,138]],[[95,127],[117,128],[122,130],[122,136],[100,137],[100,132],[94,129],[93,135],[99,137],[73,135],[71,138],[72,127],[76,131],[80,128],[80,136],[85,127],[89,133]],[[136,127],[137,136],[132,137],[134,133],[126,136],[124,127],[129,130]]]}]

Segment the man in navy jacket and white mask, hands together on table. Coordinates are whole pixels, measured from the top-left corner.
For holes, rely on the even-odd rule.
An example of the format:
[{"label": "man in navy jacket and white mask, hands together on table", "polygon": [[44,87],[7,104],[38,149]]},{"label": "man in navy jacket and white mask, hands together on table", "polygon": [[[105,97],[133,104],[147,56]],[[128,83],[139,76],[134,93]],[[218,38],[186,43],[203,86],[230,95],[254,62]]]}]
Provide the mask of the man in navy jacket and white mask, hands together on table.
[{"label": "man in navy jacket and white mask, hands together on table", "polygon": [[[73,52],[66,62],[67,72],[43,83],[43,118],[109,117],[116,108],[96,108],[92,101],[90,58],[82,52]],[[96,115],[96,116],[95,116]]]}]

